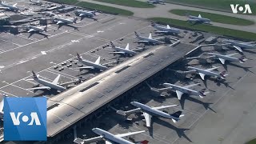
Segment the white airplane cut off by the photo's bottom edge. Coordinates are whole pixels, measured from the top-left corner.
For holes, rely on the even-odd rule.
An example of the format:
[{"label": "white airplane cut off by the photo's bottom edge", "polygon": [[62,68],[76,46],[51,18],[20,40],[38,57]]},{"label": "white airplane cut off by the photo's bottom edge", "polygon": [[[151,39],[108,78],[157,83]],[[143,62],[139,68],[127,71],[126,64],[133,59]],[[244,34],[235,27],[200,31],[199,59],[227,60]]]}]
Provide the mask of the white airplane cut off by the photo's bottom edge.
[{"label": "white airplane cut off by the photo's bottom edge", "polygon": [[[100,136],[98,137],[94,137],[94,138],[89,138],[89,139],[80,139],[80,138],[75,138],[74,142],[76,143],[91,143],[91,142],[98,142],[98,141],[102,141],[105,140],[106,144],[135,144],[134,142],[130,142],[127,141],[126,139],[124,139],[124,137],[128,137],[130,135],[134,135],[134,134],[141,134],[146,132],[145,130],[142,131],[136,131],[136,132],[130,132],[130,133],[126,133],[126,134],[111,134],[110,132],[106,131],[106,130],[102,130],[100,128],[94,128],[92,129],[93,132],[95,134],[98,134]],[[148,141],[142,141],[142,142],[138,142],[136,144],[147,144]]]}]

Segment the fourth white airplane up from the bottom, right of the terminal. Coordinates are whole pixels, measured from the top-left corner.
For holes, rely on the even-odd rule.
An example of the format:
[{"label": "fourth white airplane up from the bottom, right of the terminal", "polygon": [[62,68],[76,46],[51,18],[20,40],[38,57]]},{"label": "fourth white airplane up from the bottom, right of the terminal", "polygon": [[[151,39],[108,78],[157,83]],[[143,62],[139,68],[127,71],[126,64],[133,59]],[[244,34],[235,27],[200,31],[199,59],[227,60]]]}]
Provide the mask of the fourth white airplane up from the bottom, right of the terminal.
[{"label": "fourth white airplane up from the bottom, right of the terminal", "polygon": [[212,71],[212,70],[218,69],[218,67],[213,67],[213,68],[206,69],[206,70],[200,69],[197,67],[193,67],[193,66],[188,66],[187,68],[190,69],[191,71],[197,72],[200,75],[200,77],[202,78],[202,80],[205,80],[206,75],[212,76],[214,78],[222,78],[222,79],[225,79],[226,76],[228,75],[228,74],[226,74],[225,70],[220,73],[216,73],[216,72]]}]

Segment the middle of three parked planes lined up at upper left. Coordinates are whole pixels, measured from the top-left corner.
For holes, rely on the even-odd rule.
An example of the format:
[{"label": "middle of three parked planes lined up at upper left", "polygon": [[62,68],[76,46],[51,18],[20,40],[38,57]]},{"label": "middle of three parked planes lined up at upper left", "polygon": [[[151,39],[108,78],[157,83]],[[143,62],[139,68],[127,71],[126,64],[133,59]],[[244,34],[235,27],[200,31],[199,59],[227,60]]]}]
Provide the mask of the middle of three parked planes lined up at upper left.
[{"label": "middle of three parked planes lined up at upper left", "polygon": [[75,29],[78,29],[79,26],[74,26],[74,23],[77,23],[76,18],[60,18],[60,17],[54,17],[53,22],[56,22],[58,25],[58,29],[62,27],[63,25],[74,27]]}]

